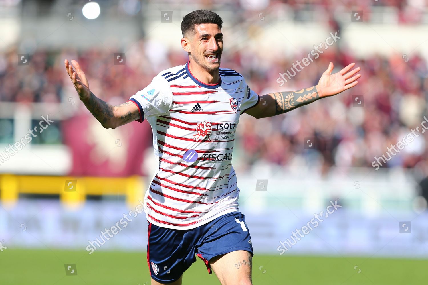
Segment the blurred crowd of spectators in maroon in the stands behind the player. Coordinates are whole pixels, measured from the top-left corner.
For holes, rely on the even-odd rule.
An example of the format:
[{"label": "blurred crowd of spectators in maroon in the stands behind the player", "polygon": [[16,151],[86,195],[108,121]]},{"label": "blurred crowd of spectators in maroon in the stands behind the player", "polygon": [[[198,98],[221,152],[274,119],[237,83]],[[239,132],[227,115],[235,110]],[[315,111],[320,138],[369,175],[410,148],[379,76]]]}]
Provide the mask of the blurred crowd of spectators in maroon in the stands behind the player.
[{"label": "blurred crowd of spectators in maroon in the stands behind the player", "polygon": [[[305,5],[304,1],[287,2],[296,9]],[[331,0],[306,2],[320,4],[325,9],[334,5]],[[346,5],[367,2],[369,5],[368,1],[341,2]],[[379,2],[382,2],[379,5],[394,6],[403,12],[409,7],[426,4],[423,0]],[[355,62],[362,74],[355,88],[285,115],[260,120],[243,115],[234,150],[234,157],[238,156],[241,162],[237,167],[248,168],[259,163],[288,166],[309,163],[318,166],[321,173],[327,173],[332,166],[373,167],[375,157],[385,154],[387,147],[401,141],[424,120],[428,65],[422,56],[413,54],[407,62],[401,54],[356,58],[338,45],[326,50],[305,70],[279,86],[279,73],[290,70],[296,59],[302,59],[304,54],[263,57],[261,53],[248,56],[247,50],[228,51],[226,48],[223,51],[222,68],[242,73],[250,88],[259,95],[314,86],[330,61],[335,65],[333,72]],[[0,101],[67,102],[76,94],[67,77],[64,59],[77,59],[89,79],[91,91],[117,105],[143,89],[158,72],[183,65],[188,56],[184,51],[168,50],[158,42],[142,39],[126,51],[125,65],[114,65],[113,51],[106,47],[81,51],[71,48],[37,50],[31,55],[29,65],[18,65],[17,50],[12,48],[0,53]],[[356,100],[360,104],[356,105]],[[82,109],[81,112],[87,111]],[[428,140],[422,133],[413,136],[414,139],[382,167],[416,167],[425,173],[423,175],[428,175]],[[310,147],[308,140],[313,142]]]}]

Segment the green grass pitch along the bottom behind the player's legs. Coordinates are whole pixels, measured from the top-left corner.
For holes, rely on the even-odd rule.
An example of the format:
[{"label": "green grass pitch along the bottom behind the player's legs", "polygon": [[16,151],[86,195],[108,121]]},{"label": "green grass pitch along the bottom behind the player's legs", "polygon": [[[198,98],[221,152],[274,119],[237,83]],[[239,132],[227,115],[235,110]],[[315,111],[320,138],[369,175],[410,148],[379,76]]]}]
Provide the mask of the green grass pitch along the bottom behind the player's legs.
[{"label": "green grass pitch along the bottom behind the player's legs", "polygon": [[[66,276],[64,264],[76,264]],[[355,266],[356,269],[354,269]],[[427,284],[428,260],[364,257],[279,256],[256,254],[254,285]],[[359,271],[359,273],[358,273]],[[144,285],[150,284],[145,253],[66,250],[0,252],[2,285]],[[183,285],[220,284],[199,258],[184,273]]]}]

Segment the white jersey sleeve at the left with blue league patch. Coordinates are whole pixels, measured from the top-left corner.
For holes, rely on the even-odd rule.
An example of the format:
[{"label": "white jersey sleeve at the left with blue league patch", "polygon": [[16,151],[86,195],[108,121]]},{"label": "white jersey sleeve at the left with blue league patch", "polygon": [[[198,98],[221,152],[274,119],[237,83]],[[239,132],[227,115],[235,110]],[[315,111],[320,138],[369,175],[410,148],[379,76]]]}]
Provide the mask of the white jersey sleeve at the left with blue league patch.
[{"label": "white jersey sleeve at the left with blue league patch", "polygon": [[165,115],[172,107],[172,91],[169,84],[162,76],[155,76],[143,90],[129,98],[129,101],[137,105],[140,112],[138,122],[143,122],[145,117]]}]

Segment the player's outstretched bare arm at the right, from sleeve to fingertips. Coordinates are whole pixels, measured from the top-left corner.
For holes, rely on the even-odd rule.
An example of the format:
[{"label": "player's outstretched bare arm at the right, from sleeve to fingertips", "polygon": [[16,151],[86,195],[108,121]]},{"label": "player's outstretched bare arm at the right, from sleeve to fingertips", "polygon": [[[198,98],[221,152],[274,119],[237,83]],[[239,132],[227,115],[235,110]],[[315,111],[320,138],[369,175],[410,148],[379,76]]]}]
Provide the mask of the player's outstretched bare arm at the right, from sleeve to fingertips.
[{"label": "player's outstretched bare arm at the right, from sleeve to fingertips", "polygon": [[258,119],[272,117],[315,102],[323,97],[339,94],[357,85],[358,81],[356,80],[360,78],[361,74],[355,76],[354,74],[360,71],[360,68],[349,71],[354,65],[353,62],[338,73],[331,74],[334,66],[333,62],[330,62],[317,85],[299,91],[263,95],[260,97],[259,103],[246,110],[245,113]]}]

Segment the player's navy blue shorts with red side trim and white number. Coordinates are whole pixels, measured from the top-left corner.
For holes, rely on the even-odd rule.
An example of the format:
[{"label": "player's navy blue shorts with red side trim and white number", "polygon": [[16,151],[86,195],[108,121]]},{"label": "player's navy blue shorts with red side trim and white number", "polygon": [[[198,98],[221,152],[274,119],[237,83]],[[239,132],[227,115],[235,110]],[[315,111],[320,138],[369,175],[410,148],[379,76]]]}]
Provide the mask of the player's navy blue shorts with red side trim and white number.
[{"label": "player's navy blue shorts with red side trim and white number", "polygon": [[250,232],[244,214],[232,212],[194,229],[167,229],[149,223],[147,262],[150,276],[160,283],[178,280],[199,256],[205,262],[235,250],[253,256]]}]

